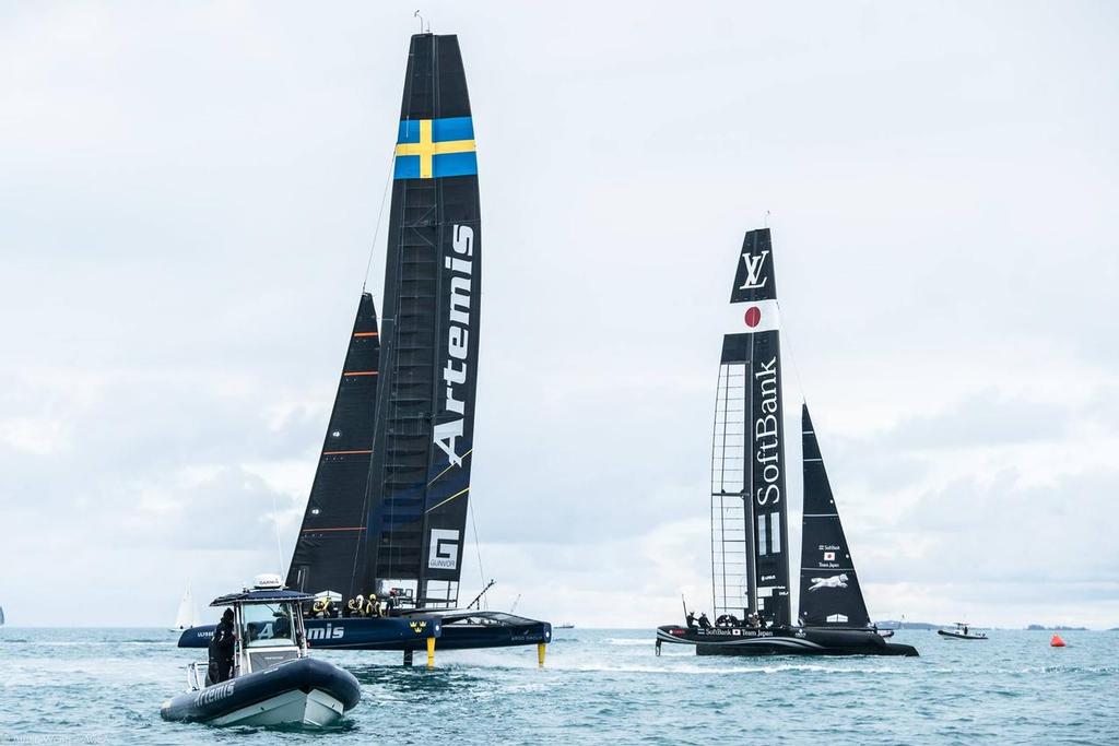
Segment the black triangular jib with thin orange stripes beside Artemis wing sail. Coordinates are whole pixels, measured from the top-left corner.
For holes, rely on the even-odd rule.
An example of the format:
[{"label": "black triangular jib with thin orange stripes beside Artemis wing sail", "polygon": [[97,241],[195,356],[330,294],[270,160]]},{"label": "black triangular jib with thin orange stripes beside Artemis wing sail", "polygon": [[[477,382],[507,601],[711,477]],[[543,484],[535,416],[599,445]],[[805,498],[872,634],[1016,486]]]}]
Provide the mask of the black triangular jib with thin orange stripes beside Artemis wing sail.
[{"label": "black triangular jib with thin orange stripes beside Artemis wing sail", "polygon": [[288,569],[288,587],[308,593],[333,591],[350,598],[361,568],[365,497],[373,453],[373,418],[379,365],[377,311],[361,294],[346,351],[335,407]]}]

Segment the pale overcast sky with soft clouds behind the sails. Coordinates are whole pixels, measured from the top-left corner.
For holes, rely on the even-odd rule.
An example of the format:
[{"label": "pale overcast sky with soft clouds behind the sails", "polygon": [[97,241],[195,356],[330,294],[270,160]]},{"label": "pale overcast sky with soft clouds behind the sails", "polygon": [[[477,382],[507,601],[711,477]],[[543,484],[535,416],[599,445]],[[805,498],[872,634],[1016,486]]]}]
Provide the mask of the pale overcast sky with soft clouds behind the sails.
[{"label": "pale overcast sky with soft clouds behind the sails", "polygon": [[[370,247],[382,303],[415,7],[0,6],[9,624],[162,626],[285,566]],[[768,225],[789,429],[806,397],[872,617],[1119,625],[1119,8],[422,12],[486,236],[462,596],[709,606],[722,320]]]}]

